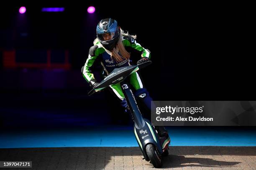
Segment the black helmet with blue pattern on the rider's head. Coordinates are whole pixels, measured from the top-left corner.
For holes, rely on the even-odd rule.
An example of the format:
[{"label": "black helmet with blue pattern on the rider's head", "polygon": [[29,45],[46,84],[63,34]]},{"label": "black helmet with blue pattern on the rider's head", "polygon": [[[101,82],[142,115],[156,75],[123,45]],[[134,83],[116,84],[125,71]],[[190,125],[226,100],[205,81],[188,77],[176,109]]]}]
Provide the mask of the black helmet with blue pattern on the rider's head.
[{"label": "black helmet with blue pattern on the rider's head", "polygon": [[[120,27],[118,26],[117,21],[111,18],[101,20],[97,25],[96,32],[103,47],[107,50],[113,50],[120,37]],[[104,34],[107,33],[111,35],[109,40],[105,40],[103,37]]]}]

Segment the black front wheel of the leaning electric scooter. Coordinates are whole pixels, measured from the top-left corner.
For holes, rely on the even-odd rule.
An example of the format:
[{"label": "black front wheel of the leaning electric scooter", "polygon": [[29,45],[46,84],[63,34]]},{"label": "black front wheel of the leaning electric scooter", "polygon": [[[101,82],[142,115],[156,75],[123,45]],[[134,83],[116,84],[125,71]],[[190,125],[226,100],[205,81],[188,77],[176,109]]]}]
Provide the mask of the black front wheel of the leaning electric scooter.
[{"label": "black front wheel of the leaning electric scooter", "polygon": [[146,145],[146,153],[150,162],[153,164],[155,168],[161,168],[162,159],[156,147],[152,144]]}]

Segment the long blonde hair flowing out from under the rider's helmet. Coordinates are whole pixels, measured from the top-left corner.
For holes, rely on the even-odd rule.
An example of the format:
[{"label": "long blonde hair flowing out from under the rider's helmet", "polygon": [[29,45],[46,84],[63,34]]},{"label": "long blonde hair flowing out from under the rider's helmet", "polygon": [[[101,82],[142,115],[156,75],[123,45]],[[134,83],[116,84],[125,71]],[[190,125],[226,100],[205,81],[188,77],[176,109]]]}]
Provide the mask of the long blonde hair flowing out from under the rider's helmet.
[{"label": "long blonde hair flowing out from under the rider's helmet", "polygon": [[[122,42],[123,36],[127,36],[127,35],[130,35],[128,31],[124,32],[124,30],[120,28],[120,37],[119,37],[118,43],[111,51],[111,58],[112,60],[115,60],[117,63],[122,62],[123,60],[128,60],[130,58],[130,53],[125,50],[125,47]],[[136,35],[130,35],[130,36],[133,37],[134,39],[136,39],[137,37]],[[96,38],[93,41],[93,44],[96,45],[97,42],[99,42],[98,38]],[[121,55],[119,55],[118,52],[120,52]]]}]

